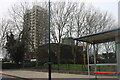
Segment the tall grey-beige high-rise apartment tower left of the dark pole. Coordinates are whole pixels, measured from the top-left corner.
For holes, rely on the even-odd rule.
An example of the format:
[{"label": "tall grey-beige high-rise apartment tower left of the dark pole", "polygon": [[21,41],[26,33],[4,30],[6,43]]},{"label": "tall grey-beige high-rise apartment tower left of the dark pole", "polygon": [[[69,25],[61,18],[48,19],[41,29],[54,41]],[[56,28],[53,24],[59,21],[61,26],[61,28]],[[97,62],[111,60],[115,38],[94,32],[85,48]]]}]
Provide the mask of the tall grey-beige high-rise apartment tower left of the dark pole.
[{"label": "tall grey-beige high-rise apartment tower left of the dark pole", "polygon": [[28,53],[35,53],[37,48],[48,42],[48,11],[40,6],[33,6],[24,15],[24,35]]}]

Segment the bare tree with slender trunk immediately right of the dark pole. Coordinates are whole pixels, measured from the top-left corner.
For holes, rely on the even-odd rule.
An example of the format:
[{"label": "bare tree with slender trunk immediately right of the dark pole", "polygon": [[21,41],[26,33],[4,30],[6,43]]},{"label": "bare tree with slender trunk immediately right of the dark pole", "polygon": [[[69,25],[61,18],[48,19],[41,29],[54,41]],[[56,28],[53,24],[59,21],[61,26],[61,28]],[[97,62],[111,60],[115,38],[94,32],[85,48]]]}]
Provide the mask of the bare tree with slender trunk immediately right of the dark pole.
[{"label": "bare tree with slender trunk immediately right of the dark pole", "polygon": [[62,38],[64,38],[68,32],[66,29],[73,16],[76,4],[70,2],[58,2],[53,3],[52,5],[52,37],[54,41],[59,44],[57,57],[58,64],[60,64],[60,43],[62,42]]}]

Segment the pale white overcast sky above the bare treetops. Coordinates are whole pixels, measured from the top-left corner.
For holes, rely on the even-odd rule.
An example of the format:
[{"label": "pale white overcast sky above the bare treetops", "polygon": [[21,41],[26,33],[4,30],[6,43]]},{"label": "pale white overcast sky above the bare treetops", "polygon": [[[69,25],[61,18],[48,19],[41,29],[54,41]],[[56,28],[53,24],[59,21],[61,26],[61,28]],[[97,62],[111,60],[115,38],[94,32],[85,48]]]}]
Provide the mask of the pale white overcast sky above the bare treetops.
[{"label": "pale white overcast sky above the bare treetops", "polygon": [[[0,0],[0,18],[6,17],[8,9],[16,2],[23,0]],[[26,1],[26,0],[25,0]],[[28,0],[32,1],[48,1],[48,0]],[[69,1],[69,2],[85,2],[89,5],[93,5],[95,8],[108,12],[115,18],[118,19],[118,1],[119,0],[51,0],[52,2],[58,1]]]}]

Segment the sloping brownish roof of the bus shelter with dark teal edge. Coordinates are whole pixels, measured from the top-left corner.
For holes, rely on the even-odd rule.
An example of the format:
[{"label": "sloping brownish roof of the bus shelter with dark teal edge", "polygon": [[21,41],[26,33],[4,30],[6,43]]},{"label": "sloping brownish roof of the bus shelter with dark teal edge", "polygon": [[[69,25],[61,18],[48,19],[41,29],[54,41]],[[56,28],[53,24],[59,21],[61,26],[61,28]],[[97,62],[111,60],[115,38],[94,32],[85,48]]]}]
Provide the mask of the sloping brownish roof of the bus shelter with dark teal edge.
[{"label": "sloping brownish roof of the bus shelter with dark teal edge", "polygon": [[74,40],[87,42],[91,44],[99,44],[115,41],[115,37],[117,37],[118,35],[120,35],[120,28],[99,32],[91,35],[86,35],[79,38],[74,38]]}]

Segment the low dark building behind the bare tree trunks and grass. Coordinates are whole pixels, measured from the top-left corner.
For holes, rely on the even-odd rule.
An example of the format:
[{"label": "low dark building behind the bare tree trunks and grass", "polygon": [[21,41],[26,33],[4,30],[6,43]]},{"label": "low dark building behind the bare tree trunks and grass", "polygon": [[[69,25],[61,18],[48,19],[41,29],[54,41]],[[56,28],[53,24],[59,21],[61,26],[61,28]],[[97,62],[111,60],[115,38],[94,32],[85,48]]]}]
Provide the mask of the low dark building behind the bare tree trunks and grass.
[{"label": "low dark building behind the bare tree trunks and grass", "polygon": [[[58,52],[58,44],[52,43],[51,45],[51,61],[54,64],[57,64],[57,52]],[[75,48],[75,47],[74,47]],[[74,52],[76,54],[76,63],[83,63],[83,49],[82,47],[78,47],[78,50]],[[48,44],[42,45],[39,47],[38,53],[38,61],[39,63],[46,63],[48,62]],[[73,53],[72,53],[72,46],[60,44],[60,63],[62,64],[73,64]]]}]

